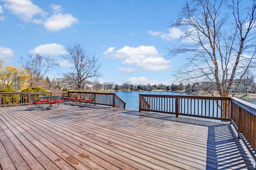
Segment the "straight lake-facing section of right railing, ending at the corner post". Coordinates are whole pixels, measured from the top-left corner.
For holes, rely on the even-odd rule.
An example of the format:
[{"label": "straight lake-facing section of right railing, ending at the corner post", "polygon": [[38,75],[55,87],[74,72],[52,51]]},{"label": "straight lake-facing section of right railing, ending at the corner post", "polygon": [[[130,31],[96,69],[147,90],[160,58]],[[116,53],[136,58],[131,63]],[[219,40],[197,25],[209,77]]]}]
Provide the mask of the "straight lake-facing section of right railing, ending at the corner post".
[{"label": "straight lake-facing section of right railing, ending at the corner post", "polygon": [[140,94],[139,111],[154,111],[229,121],[228,97]]}]

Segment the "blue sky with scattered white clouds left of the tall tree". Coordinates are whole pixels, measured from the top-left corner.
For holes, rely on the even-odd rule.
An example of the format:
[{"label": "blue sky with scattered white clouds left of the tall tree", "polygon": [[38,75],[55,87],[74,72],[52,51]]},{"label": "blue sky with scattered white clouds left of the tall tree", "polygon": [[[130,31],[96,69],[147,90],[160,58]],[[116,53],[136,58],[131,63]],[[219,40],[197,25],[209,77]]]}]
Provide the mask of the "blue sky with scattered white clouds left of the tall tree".
[{"label": "blue sky with scattered white clouds left of the tall tree", "polygon": [[80,43],[99,58],[100,82],[171,84],[180,64],[168,58],[180,29],[170,27],[185,0],[0,0],[0,60],[18,66],[20,57],[54,57],[69,69],[60,54],[69,43]]}]

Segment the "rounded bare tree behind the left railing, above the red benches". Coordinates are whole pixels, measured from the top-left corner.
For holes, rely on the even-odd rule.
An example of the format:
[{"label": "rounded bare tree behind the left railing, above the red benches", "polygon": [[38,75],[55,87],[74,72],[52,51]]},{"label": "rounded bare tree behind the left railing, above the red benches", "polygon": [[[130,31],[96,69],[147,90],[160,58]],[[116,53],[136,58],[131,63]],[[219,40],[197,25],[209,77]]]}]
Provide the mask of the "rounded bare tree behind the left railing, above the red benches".
[{"label": "rounded bare tree behind the left railing, above the red benches", "polygon": [[66,80],[76,83],[77,90],[83,88],[84,80],[92,77],[100,77],[100,64],[97,64],[95,54],[90,55],[82,49],[79,43],[68,45],[66,47],[67,55],[62,55],[64,59],[70,62],[69,72],[63,73]]}]

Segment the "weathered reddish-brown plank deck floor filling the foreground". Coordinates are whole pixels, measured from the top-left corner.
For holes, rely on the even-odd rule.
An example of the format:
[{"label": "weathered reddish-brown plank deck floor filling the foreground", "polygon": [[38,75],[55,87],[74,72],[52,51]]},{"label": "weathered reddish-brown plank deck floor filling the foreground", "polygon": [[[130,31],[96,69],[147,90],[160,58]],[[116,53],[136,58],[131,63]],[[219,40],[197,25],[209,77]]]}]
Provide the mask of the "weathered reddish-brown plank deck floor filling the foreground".
[{"label": "weathered reddish-brown plank deck floor filling the foreground", "polygon": [[0,169],[254,169],[232,125],[67,105],[0,108]]}]

